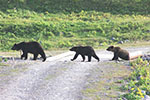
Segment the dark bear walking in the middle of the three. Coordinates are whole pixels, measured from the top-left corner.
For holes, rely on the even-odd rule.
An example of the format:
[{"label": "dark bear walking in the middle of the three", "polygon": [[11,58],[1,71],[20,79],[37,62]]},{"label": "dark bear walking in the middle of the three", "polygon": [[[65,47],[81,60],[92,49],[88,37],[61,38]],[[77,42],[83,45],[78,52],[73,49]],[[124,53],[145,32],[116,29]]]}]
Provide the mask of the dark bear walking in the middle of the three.
[{"label": "dark bear walking in the middle of the three", "polygon": [[94,49],[91,46],[76,46],[72,47],[70,51],[76,52],[75,56],[73,57],[73,59],[71,59],[71,61],[75,60],[78,57],[78,55],[82,56],[83,61],[85,60],[85,56],[88,56],[88,62],[91,61],[91,57],[94,57],[95,59],[100,61]]}]

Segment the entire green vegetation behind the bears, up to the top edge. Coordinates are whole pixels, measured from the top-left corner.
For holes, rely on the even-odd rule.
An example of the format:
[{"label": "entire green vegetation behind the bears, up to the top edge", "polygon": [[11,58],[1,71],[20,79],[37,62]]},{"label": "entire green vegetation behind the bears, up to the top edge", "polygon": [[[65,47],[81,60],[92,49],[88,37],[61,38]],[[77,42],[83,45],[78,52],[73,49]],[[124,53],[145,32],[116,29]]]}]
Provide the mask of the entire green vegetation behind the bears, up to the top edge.
[{"label": "entire green vegetation behind the bears, up to the top edge", "polygon": [[0,51],[8,51],[21,41],[38,41],[50,50],[150,38],[148,0],[0,0],[0,3]]}]

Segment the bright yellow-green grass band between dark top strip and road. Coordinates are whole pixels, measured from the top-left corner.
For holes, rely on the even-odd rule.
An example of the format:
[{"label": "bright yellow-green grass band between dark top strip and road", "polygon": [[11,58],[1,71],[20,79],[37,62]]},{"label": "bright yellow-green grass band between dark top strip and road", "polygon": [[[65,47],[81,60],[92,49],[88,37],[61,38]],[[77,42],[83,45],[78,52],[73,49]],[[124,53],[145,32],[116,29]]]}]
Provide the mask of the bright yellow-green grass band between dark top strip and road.
[{"label": "bright yellow-green grass band between dark top strip and road", "polygon": [[76,45],[99,47],[150,38],[148,15],[114,15],[84,10],[54,14],[22,9],[1,11],[0,15],[1,51],[10,50],[14,43],[21,41],[38,41],[44,49],[52,50]]}]

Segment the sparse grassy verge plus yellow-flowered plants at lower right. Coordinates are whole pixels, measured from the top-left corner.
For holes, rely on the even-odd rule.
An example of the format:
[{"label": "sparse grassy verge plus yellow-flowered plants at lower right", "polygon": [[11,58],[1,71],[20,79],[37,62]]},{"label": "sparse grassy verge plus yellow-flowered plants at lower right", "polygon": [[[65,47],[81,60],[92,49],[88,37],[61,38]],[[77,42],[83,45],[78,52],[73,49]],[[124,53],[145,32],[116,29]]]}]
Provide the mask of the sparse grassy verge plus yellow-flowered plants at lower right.
[{"label": "sparse grassy verge plus yellow-flowered plants at lower right", "polygon": [[[125,63],[130,66],[124,66]],[[141,58],[132,62],[107,62],[97,67],[87,79],[83,100],[149,100],[150,65]],[[111,66],[111,67],[110,67]]]}]

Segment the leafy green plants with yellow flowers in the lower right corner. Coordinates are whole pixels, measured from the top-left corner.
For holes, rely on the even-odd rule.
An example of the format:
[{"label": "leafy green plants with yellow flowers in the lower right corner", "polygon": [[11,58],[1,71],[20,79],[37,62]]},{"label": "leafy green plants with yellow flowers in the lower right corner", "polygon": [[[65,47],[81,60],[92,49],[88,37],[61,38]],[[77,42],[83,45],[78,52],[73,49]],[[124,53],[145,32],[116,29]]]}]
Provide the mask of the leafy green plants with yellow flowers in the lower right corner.
[{"label": "leafy green plants with yellow flowers in the lower right corner", "polygon": [[131,73],[125,87],[129,92],[123,96],[128,100],[141,100],[145,95],[150,95],[150,65],[148,61],[138,58],[131,62]]}]

